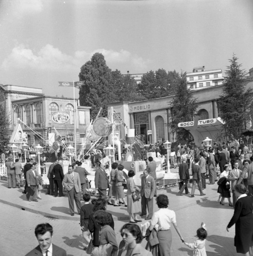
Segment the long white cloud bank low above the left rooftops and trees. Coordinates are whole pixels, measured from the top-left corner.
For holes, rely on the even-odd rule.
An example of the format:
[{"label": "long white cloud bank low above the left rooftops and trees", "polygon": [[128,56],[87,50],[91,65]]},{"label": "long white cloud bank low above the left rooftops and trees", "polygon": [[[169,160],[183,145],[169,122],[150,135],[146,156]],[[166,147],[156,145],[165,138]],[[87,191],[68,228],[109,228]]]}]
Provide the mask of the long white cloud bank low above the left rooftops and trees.
[{"label": "long white cloud bank low above the left rooftops and trees", "polygon": [[106,64],[112,70],[123,69],[126,71],[126,69],[130,69],[137,72],[146,72],[150,63],[149,60],[144,60],[142,57],[133,55],[123,49],[120,52],[106,49],[95,49],[92,52],[76,51],[74,56],[71,56],[47,44],[37,53],[24,45],[15,47],[11,54],[4,59],[1,68],[4,70],[26,70],[28,68],[51,72],[64,70],[76,72],[86,61],[91,59],[95,52],[101,52],[104,55]]}]

